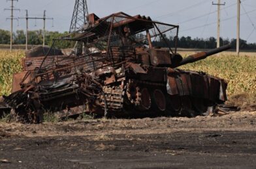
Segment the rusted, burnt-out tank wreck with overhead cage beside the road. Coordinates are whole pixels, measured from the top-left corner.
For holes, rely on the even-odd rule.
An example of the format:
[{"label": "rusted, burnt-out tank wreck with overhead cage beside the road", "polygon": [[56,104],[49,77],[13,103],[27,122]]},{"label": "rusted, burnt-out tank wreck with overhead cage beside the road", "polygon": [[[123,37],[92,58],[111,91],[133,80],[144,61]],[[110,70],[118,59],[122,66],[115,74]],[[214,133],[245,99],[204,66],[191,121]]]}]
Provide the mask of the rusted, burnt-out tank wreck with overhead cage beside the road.
[{"label": "rusted, burnt-out tank wreck with overhead cage beside the road", "polygon": [[[44,112],[60,117],[99,113],[197,116],[227,100],[227,83],[180,66],[230,48],[177,53],[178,25],[123,12],[99,18],[68,36],[76,42],[69,55],[26,57],[24,72],[14,74],[12,94],[4,97],[12,114],[24,122],[41,122]],[[50,50],[49,50],[50,51]]]}]

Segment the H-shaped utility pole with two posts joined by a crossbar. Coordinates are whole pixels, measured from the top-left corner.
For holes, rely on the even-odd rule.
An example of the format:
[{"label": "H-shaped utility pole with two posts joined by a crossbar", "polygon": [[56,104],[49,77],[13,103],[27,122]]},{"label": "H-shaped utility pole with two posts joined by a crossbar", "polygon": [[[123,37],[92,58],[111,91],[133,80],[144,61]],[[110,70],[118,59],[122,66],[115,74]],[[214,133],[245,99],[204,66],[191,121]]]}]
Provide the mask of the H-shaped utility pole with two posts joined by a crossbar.
[{"label": "H-shaped utility pole with two posts joined by a crossbar", "polygon": [[28,29],[29,29],[29,19],[42,19],[44,21],[43,29],[42,29],[42,46],[45,45],[45,31],[46,31],[46,19],[54,20],[54,18],[46,18],[46,10],[44,10],[44,16],[42,18],[38,17],[29,17],[27,10],[25,10],[26,15],[25,18],[19,19],[26,19],[26,37],[25,37],[25,49],[27,50],[27,43],[28,43]]}]

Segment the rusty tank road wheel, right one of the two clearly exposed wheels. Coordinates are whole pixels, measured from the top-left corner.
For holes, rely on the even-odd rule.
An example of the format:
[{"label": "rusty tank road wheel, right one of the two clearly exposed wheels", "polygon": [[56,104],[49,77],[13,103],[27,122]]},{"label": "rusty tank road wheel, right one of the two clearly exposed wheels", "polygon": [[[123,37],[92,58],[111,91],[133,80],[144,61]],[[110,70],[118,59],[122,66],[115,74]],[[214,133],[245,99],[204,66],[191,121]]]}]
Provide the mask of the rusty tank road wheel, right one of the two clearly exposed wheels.
[{"label": "rusty tank road wheel, right one of the two clearly exposed wheels", "polygon": [[152,94],[153,105],[157,110],[164,112],[167,109],[167,101],[165,94],[159,89],[153,90]]}]

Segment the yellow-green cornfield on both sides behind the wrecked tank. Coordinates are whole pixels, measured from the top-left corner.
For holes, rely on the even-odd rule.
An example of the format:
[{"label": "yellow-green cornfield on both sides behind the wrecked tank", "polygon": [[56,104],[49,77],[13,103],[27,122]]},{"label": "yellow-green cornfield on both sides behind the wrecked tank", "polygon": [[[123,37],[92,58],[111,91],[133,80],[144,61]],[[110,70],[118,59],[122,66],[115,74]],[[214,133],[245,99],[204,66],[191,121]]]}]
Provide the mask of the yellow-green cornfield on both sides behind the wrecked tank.
[{"label": "yellow-green cornfield on both sides behind the wrecked tank", "polygon": [[[182,52],[189,55],[191,52]],[[0,96],[8,95],[12,88],[12,74],[22,72],[24,51],[0,51]],[[227,93],[256,94],[256,53],[237,57],[234,53],[222,53],[181,67],[184,70],[195,70],[221,77],[229,86]]]}]

